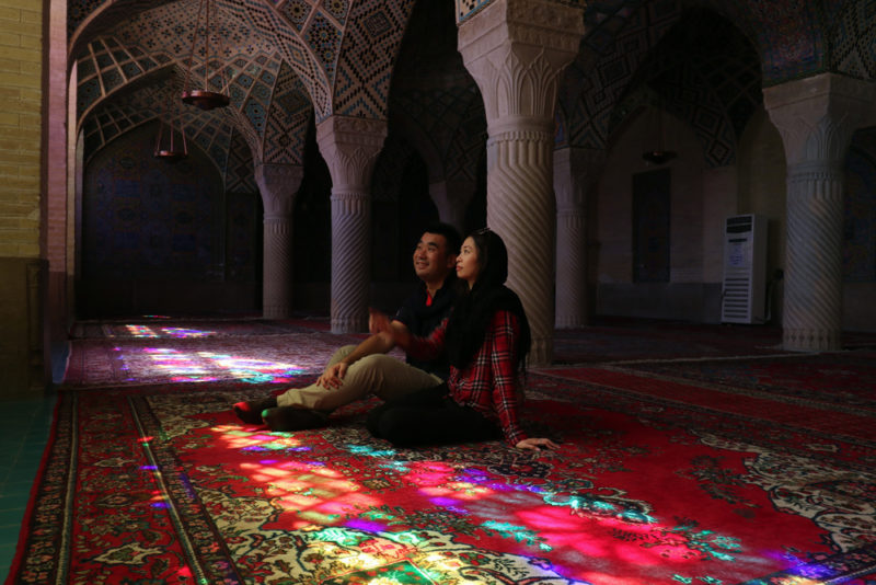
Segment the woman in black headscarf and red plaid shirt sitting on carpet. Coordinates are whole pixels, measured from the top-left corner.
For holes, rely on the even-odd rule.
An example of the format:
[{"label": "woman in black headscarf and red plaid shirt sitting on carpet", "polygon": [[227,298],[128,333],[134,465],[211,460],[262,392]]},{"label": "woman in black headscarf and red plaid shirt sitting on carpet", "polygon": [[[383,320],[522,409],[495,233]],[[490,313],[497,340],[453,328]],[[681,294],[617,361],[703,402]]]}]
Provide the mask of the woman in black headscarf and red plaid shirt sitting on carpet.
[{"label": "woman in black headscarf and red plaid shirt sitting on carpet", "polygon": [[381,404],[368,415],[368,429],[397,446],[447,444],[504,437],[519,449],[555,449],[546,438],[528,438],[518,411],[522,372],[531,343],[520,299],[504,286],[508,276],[505,242],[489,229],[462,243],[457,276],[468,284],[450,317],[428,337],[416,337],[371,313],[372,332],[392,335],[395,344],[419,358],[450,356],[446,383]]}]

